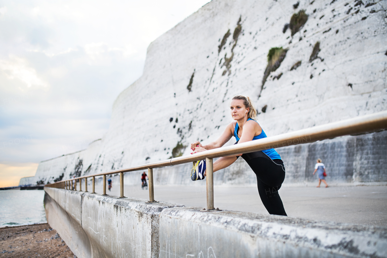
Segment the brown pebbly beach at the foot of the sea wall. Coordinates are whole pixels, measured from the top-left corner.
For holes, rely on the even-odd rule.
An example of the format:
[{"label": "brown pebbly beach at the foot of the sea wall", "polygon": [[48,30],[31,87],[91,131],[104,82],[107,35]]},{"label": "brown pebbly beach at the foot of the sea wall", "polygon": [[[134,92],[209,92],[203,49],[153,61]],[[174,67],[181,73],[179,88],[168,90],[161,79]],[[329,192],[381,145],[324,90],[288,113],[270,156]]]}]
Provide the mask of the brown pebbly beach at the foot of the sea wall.
[{"label": "brown pebbly beach at the foot of the sea wall", "polygon": [[45,223],[0,228],[0,257],[75,258],[76,256],[57,231]]}]

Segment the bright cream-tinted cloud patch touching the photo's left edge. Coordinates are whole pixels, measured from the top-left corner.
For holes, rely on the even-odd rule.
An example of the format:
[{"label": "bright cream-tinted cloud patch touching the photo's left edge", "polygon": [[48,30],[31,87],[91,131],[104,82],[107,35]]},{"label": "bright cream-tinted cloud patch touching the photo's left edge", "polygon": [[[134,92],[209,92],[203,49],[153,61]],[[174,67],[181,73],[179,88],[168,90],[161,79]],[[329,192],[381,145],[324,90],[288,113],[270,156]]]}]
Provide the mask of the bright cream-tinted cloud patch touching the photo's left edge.
[{"label": "bright cream-tinted cloud patch touching the photo's left edge", "polygon": [[35,69],[29,67],[27,61],[23,58],[11,55],[9,60],[0,60],[0,71],[4,72],[9,79],[19,79],[27,87],[43,86],[48,84],[38,77]]}]

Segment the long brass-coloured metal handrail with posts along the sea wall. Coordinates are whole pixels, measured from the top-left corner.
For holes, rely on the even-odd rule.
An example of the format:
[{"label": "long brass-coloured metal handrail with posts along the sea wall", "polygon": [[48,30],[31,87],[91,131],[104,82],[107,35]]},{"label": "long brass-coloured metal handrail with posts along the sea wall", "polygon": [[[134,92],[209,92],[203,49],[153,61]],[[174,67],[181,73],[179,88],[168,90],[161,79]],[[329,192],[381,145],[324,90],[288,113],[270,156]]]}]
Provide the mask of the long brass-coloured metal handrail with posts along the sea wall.
[{"label": "long brass-coloured metal handrail with posts along the sea wall", "polygon": [[[85,190],[87,192],[87,178],[92,177],[92,189],[93,189],[92,193],[95,193],[94,191],[95,177],[103,175],[104,177],[103,194],[106,195],[106,175],[120,173],[120,197],[119,198],[125,198],[125,196],[123,196],[123,173],[148,169],[148,178],[149,178],[149,202],[148,203],[154,203],[156,202],[154,200],[154,193],[153,193],[153,169],[154,168],[167,167],[171,165],[177,165],[177,164],[206,159],[207,161],[207,171],[206,171],[207,210],[206,211],[208,210],[213,211],[215,210],[213,175],[212,175],[213,158],[237,155],[240,153],[249,153],[253,151],[267,150],[269,148],[281,148],[281,147],[291,146],[291,145],[296,145],[301,143],[311,143],[314,141],[332,139],[335,137],[349,135],[349,134],[361,134],[365,132],[372,132],[378,129],[386,129],[386,128],[387,128],[387,111],[383,111],[383,112],[378,112],[370,115],[364,115],[361,117],[355,117],[352,119],[332,122],[321,126],[314,126],[306,129],[301,129],[294,132],[287,132],[284,134],[270,136],[270,137],[258,139],[255,141],[248,141],[245,143],[235,144],[232,146],[207,150],[200,153],[195,153],[193,155],[171,158],[160,162],[147,163],[144,165],[130,167],[127,169],[118,169],[118,170],[112,170],[109,172],[104,172],[104,173],[99,173],[94,175],[76,177],[74,179],[68,179],[68,180],[63,180],[53,184],[47,184],[46,186],[76,190],[76,185],[78,180],[80,185],[80,191],[81,191],[81,180],[85,179],[85,187],[86,187]],[[74,185],[73,185],[73,181],[75,181]]]}]

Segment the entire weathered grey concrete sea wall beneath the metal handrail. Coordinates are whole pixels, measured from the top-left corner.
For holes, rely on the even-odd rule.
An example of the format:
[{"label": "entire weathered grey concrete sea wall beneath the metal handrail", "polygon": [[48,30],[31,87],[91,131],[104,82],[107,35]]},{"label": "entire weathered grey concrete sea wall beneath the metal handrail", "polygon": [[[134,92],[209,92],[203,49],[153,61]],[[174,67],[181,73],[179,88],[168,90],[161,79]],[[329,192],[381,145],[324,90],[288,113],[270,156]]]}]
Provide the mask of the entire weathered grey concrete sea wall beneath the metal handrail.
[{"label": "entire weathered grey concrete sea wall beneath the metal handrail", "polygon": [[45,191],[48,223],[79,258],[387,257],[385,227]]}]

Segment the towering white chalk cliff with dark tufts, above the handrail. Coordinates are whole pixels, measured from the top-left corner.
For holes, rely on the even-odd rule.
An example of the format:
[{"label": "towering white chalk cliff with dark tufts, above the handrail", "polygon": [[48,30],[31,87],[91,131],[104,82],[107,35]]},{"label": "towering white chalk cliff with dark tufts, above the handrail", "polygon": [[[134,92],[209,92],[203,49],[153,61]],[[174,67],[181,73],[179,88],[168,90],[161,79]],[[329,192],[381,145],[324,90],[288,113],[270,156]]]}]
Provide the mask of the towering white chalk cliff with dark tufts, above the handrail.
[{"label": "towering white chalk cliff with dark tufts, above the handrail", "polygon": [[252,98],[268,136],[386,110],[386,9],[378,0],[212,0],[149,45],[103,139],[41,162],[36,181],[189,155],[185,146],[215,140],[231,122],[236,94]]}]

